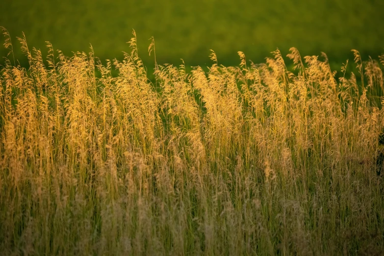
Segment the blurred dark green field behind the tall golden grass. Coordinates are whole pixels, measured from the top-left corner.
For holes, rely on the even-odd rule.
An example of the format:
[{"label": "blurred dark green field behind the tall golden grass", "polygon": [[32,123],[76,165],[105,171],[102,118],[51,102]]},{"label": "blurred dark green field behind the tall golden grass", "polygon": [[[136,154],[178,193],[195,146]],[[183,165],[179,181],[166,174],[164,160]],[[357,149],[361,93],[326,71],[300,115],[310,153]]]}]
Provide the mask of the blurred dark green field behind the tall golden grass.
[{"label": "blurred dark green field behind the tall golden grass", "polygon": [[[22,31],[31,49],[46,54],[45,41],[65,54],[89,51],[96,56],[121,59],[130,51],[127,41],[136,30],[139,56],[148,56],[154,36],[159,64],[210,65],[209,49],[219,64],[237,65],[237,51],[263,62],[279,48],[302,56],[328,54],[341,65],[353,59],[351,49],[363,57],[384,52],[384,0],[1,0],[0,26],[11,33],[16,57],[25,63],[16,36]],[[1,41],[3,38],[1,37]],[[3,48],[0,56],[5,56]]]}]

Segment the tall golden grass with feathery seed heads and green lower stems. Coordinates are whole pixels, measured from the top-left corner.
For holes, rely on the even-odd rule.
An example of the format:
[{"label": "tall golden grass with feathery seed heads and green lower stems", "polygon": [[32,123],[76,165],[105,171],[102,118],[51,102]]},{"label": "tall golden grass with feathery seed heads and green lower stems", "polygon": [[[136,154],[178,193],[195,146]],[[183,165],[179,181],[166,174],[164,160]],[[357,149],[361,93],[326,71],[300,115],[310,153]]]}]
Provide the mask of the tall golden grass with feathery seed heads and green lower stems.
[{"label": "tall golden grass with feathery seed heads and green lower stems", "polygon": [[[5,30],[4,30],[5,31]],[[3,255],[381,255],[384,56],[208,71],[20,39],[0,71]],[[150,50],[154,49],[152,44]],[[321,60],[320,60],[321,59]],[[111,75],[116,69],[118,76]]]}]

